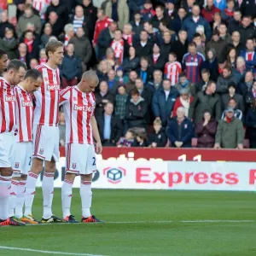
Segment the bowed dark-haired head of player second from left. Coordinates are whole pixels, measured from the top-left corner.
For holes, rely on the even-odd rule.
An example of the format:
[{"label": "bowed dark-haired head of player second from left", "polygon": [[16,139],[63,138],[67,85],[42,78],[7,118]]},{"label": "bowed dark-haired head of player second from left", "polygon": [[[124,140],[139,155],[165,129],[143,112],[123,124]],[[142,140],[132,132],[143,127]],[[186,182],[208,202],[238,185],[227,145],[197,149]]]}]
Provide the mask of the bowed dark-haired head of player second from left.
[{"label": "bowed dark-haired head of player second from left", "polygon": [[19,84],[26,74],[26,64],[20,60],[9,61],[7,67],[7,78],[11,85]]}]

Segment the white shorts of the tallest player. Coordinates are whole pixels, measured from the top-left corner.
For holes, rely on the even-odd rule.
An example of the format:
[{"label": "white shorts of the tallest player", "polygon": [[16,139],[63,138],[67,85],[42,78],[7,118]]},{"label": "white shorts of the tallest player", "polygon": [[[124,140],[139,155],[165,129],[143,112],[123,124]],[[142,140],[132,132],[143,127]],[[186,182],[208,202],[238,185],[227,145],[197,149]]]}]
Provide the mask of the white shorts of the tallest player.
[{"label": "white shorts of the tallest player", "polygon": [[33,125],[33,158],[59,161],[59,127]]}]

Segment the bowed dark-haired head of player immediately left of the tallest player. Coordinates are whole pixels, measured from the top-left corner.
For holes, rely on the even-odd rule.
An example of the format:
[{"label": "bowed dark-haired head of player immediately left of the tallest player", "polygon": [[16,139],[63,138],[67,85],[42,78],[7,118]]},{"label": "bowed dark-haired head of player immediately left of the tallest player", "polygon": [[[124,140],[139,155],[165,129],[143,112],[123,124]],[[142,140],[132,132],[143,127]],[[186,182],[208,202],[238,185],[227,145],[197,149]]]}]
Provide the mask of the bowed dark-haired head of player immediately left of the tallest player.
[{"label": "bowed dark-haired head of player immediately left of the tallest player", "polygon": [[26,72],[24,81],[22,84],[25,85],[24,89],[32,93],[38,90],[43,83],[43,76],[37,69],[31,69]]}]

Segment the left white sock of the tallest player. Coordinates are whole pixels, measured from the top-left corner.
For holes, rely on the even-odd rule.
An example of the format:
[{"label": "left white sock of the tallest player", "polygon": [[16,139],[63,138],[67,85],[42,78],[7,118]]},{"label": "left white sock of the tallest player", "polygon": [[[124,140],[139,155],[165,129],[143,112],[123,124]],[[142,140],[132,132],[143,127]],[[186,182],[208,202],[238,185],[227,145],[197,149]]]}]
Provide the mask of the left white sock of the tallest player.
[{"label": "left white sock of the tallest player", "polygon": [[32,204],[36,194],[36,184],[38,181],[38,174],[28,172],[26,180],[26,195],[25,195],[25,212],[24,215],[32,215]]}]

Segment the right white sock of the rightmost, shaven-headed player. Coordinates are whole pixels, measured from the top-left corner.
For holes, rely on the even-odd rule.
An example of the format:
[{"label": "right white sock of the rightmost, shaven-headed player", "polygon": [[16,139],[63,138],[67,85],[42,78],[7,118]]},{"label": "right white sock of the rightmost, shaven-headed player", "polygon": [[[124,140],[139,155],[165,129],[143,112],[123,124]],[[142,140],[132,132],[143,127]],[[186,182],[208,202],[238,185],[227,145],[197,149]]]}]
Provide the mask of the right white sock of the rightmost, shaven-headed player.
[{"label": "right white sock of the rightmost, shaven-headed player", "polygon": [[91,182],[82,181],[80,184],[80,196],[82,201],[82,216],[84,218],[90,217],[90,207],[91,207]]}]

